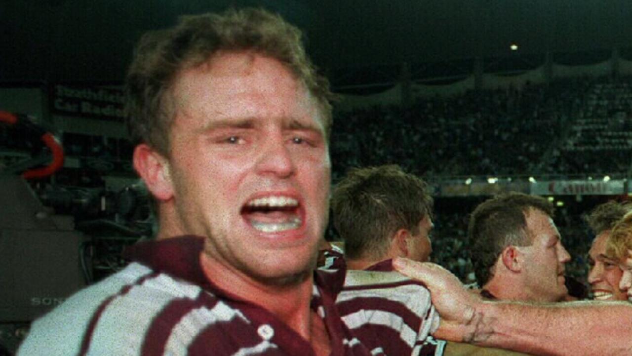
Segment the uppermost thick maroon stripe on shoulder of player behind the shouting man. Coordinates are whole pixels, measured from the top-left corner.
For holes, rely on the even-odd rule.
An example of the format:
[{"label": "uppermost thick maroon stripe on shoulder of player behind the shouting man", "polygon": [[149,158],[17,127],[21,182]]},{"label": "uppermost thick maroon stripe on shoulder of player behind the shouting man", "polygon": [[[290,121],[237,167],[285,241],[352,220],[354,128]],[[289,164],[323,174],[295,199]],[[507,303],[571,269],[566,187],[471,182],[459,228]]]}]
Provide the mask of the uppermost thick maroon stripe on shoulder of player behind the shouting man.
[{"label": "uppermost thick maroon stripe on shoulder of player behind the shouting man", "polygon": [[360,310],[381,310],[395,314],[401,317],[404,323],[413,329],[415,333],[419,332],[422,323],[422,318],[408,309],[406,305],[384,298],[358,297],[345,300],[344,302],[338,302],[336,305],[341,316],[346,316]]}]

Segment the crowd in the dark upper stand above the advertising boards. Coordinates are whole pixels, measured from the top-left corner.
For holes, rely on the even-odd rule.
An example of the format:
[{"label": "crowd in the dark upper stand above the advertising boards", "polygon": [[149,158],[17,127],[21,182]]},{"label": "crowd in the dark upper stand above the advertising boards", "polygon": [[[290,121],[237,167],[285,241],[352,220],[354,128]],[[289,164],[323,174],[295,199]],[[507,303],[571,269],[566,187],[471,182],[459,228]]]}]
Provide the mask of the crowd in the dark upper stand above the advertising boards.
[{"label": "crowd in the dark upper stand above the advertising boards", "polygon": [[398,163],[424,178],[627,172],[629,78],[582,77],[337,113],[334,182]]}]

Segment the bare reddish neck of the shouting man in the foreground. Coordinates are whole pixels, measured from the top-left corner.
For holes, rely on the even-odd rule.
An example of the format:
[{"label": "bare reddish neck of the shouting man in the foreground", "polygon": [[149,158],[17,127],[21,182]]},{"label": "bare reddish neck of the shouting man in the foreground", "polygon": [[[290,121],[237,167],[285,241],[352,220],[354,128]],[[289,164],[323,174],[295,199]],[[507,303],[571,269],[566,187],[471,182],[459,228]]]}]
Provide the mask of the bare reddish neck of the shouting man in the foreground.
[{"label": "bare reddish neck of the shouting man in the foreground", "polygon": [[224,264],[209,258],[204,252],[200,253],[200,265],[214,285],[238,298],[263,307],[305,340],[310,341],[312,274],[290,285],[274,285],[262,283],[249,278],[241,271],[227,268]]}]

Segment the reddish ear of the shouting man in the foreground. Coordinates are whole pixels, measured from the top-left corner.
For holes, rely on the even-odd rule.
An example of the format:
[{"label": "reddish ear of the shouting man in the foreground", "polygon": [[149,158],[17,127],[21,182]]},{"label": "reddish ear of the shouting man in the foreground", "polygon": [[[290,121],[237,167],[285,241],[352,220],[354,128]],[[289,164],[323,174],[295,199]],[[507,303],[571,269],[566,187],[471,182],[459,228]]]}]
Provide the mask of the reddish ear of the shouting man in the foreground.
[{"label": "reddish ear of the shouting man in the foreground", "polygon": [[133,162],[138,175],[156,199],[169,200],[173,197],[169,161],[164,156],[149,145],[140,144],[134,149]]}]

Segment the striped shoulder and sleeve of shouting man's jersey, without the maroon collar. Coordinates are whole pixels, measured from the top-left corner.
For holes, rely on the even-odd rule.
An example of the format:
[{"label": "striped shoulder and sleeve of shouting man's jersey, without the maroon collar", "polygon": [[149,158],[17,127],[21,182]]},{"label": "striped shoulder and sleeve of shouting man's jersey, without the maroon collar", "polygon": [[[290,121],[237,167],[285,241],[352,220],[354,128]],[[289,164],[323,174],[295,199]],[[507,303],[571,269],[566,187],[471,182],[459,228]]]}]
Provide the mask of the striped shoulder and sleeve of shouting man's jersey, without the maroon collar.
[{"label": "striped shoulder and sleeve of shouting man's jersey, without the maroon collar", "polygon": [[[135,278],[124,278],[125,273]],[[140,264],[131,264],[113,277],[123,278],[126,283],[106,280],[78,293],[35,323],[19,354],[277,353],[277,345],[264,332],[258,332],[239,309],[199,286],[153,273]],[[78,315],[81,320],[76,320]]]}]

